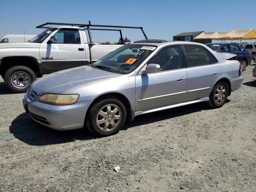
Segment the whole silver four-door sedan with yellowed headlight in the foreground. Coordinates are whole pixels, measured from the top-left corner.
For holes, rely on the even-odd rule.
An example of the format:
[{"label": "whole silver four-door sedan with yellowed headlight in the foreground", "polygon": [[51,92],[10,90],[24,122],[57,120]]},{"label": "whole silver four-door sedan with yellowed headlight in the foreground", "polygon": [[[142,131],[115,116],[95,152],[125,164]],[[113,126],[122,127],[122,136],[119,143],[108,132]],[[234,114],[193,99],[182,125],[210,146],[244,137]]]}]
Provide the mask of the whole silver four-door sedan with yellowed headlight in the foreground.
[{"label": "whole silver four-door sedan with yellowed headlight in the foreground", "polygon": [[204,44],[141,40],[36,80],[23,104],[50,128],[109,136],[140,114],[197,102],[222,107],[243,80],[240,63],[222,57]]}]

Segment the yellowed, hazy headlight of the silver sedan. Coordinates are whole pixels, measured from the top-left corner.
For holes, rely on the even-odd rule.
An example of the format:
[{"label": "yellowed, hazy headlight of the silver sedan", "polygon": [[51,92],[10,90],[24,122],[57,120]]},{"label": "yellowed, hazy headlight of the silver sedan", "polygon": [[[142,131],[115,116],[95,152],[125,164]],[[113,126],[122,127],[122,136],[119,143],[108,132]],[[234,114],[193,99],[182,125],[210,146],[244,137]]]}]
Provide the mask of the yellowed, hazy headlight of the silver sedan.
[{"label": "yellowed, hazy headlight of the silver sedan", "polygon": [[58,95],[58,94],[44,94],[38,101],[52,105],[70,105],[74,104],[79,98],[78,94],[72,95]]}]

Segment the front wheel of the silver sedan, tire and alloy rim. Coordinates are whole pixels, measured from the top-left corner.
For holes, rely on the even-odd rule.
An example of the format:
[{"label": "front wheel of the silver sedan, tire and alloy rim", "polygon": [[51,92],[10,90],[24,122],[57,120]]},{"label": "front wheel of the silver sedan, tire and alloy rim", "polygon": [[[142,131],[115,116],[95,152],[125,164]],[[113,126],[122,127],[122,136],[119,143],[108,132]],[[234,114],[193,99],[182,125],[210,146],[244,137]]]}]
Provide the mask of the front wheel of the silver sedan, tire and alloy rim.
[{"label": "front wheel of the silver sedan, tire and alloy rim", "polygon": [[[96,136],[116,134],[124,126],[125,121],[126,108],[124,104],[112,96],[106,96],[104,99],[94,102],[85,118],[86,127]],[[101,122],[102,124],[100,124]]]}]

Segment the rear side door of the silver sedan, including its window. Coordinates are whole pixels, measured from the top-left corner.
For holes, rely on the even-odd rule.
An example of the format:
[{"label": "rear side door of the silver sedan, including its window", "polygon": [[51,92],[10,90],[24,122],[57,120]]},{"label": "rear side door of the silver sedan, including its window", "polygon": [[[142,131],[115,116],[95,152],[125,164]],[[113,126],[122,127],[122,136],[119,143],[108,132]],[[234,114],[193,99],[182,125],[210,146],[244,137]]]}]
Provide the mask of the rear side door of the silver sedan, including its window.
[{"label": "rear side door of the silver sedan, including its window", "polygon": [[187,88],[184,101],[206,98],[220,77],[220,66],[214,56],[202,46],[184,45]]}]

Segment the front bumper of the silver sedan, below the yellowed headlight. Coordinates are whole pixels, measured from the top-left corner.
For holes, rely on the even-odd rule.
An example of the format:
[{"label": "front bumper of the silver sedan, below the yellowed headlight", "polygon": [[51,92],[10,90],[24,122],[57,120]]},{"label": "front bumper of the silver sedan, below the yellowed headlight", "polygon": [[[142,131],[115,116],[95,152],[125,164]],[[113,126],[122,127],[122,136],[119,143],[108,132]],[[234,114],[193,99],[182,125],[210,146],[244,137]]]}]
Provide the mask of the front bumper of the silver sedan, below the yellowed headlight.
[{"label": "front bumper of the silver sedan, below the yellowed headlight", "polygon": [[80,101],[71,105],[50,105],[39,102],[40,96],[34,99],[25,94],[24,108],[31,118],[44,126],[55,130],[71,130],[84,126],[86,111],[92,101]]}]

